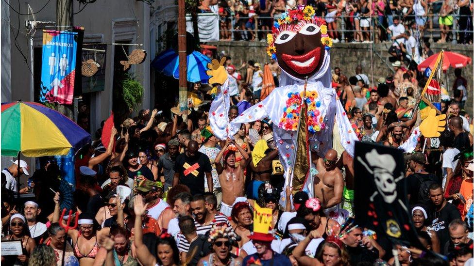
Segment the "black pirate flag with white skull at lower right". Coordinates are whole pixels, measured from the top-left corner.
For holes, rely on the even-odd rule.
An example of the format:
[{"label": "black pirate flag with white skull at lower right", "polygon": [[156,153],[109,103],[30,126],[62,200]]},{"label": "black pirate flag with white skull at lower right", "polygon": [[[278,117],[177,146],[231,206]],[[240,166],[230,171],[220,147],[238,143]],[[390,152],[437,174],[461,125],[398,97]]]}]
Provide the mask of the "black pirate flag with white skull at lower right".
[{"label": "black pirate flag with white skull at lower right", "polygon": [[402,152],[355,143],[355,219],[359,226],[386,235],[393,244],[425,250],[409,215]]}]

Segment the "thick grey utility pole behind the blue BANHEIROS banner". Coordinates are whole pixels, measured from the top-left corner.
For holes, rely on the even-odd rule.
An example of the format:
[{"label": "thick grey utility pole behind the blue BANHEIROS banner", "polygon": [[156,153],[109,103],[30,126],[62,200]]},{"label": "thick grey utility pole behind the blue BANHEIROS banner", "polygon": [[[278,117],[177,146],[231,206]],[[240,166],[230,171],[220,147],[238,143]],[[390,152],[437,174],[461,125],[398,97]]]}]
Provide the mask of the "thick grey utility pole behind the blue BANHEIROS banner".
[{"label": "thick grey utility pole behind the blue BANHEIROS banner", "polygon": [[[56,0],[56,30],[63,31],[61,26],[72,26],[74,24],[74,2],[73,0]],[[74,120],[73,106],[58,105],[58,111],[71,120]]]}]

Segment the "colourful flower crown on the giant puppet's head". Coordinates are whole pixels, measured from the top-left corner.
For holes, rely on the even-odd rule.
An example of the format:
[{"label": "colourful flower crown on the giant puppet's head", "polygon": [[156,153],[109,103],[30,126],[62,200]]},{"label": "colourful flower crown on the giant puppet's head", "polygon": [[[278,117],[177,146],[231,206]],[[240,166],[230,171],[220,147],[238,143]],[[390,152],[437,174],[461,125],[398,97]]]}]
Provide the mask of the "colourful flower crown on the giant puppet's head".
[{"label": "colourful flower crown on the giant puppet's head", "polygon": [[273,23],[271,33],[267,34],[267,54],[276,60],[275,39],[283,31],[299,31],[306,24],[313,23],[320,28],[321,43],[324,49],[329,50],[333,46],[333,40],[327,35],[326,21],[322,17],[316,17],[312,6],[298,5],[296,8],[281,14],[277,22]]}]

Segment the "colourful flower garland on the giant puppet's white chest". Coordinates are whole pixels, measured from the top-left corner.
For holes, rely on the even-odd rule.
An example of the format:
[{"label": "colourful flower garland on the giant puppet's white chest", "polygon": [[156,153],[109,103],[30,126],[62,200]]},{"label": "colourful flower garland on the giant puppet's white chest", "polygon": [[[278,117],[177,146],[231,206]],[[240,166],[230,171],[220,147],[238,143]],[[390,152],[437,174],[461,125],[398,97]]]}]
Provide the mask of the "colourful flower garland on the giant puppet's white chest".
[{"label": "colourful flower garland on the giant puppet's white chest", "polygon": [[287,107],[283,108],[283,117],[280,119],[278,126],[285,130],[297,129],[301,112],[301,101],[303,98],[308,107],[308,132],[315,134],[326,127],[322,122],[321,112],[318,110],[318,108],[321,107],[321,102],[318,100],[318,93],[316,91],[306,91],[305,97],[303,97],[303,92],[289,93],[286,102]]}]

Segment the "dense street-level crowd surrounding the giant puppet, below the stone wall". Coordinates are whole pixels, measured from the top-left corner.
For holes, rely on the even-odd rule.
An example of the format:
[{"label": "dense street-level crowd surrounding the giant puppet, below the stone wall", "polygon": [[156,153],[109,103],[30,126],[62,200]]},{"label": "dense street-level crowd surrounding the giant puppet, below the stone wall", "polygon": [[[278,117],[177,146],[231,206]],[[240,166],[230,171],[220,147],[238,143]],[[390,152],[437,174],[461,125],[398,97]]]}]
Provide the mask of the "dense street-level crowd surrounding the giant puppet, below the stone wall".
[{"label": "dense street-level crowd surrounding the giant puppet, below the stone wall", "polygon": [[[360,66],[351,76],[335,67],[332,86],[360,141],[398,148],[421,122],[426,77],[403,62],[392,65],[394,75],[376,84]],[[225,67],[236,79],[232,120],[258,104],[262,71],[249,62],[240,77],[231,59]],[[405,154],[409,214],[424,250],[397,245],[392,252],[386,235],[355,223],[357,177],[341,147],[312,156],[315,195],[293,191],[284,187],[273,122],[242,124],[233,140],[219,140],[209,126],[209,105],[194,106],[210,97],[197,84],[190,86],[188,109],[171,109],[172,119],[141,110],[113,127],[107,143],[96,134],[75,155],[75,184],[53,157],[39,158],[34,172],[25,161],[12,161],[1,173],[2,241],[20,241],[22,254],[2,254],[1,263],[472,265],[473,121],[464,110],[466,79],[460,69],[455,73],[453,84],[440,88],[445,130],[427,141],[419,136]],[[33,192],[27,202],[15,195],[22,174],[31,174],[19,189]],[[282,198],[292,200],[283,206]],[[259,207],[271,210],[266,233],[254,232],[261,227]],[[335,217],[335,209],[347,218]]]}]

